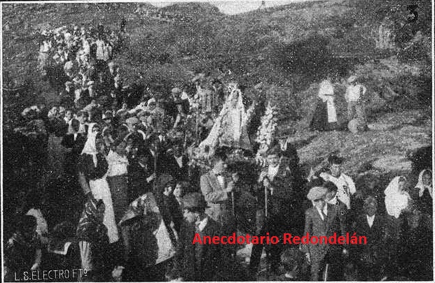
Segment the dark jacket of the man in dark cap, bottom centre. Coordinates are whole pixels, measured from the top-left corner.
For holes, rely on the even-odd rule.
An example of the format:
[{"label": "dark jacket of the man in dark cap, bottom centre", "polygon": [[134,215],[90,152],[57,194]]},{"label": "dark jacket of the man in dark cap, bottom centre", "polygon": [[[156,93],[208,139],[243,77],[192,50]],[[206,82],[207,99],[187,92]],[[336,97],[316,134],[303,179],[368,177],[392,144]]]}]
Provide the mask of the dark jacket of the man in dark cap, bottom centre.
[{"label": "dark jacket of the man in dark cap, bottom centre", "polygon": [[[222,245],[192,245],[195,237],[195,224],[184,222],[177,253],[175,256],[175,270],[184,281],[225,281],[229,259],[225,246]],[[221,236],[219,224],[208,218],[207,225],[199,232],[200,236]]]}]

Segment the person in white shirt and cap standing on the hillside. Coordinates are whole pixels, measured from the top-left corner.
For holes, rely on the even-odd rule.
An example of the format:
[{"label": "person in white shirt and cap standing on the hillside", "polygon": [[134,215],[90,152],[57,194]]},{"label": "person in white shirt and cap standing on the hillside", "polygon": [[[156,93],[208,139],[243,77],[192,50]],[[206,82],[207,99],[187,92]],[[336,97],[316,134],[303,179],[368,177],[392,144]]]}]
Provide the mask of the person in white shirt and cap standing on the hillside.
[{"label": "person in white shirt and cap standing on the hillside", "polygon": [[345,99],[347,102],[347,119],[349,121],[356,118],[365,122],[364,95],[366,92],[366,87],[358,84],[356,75],[351,75],[347,79]]}]

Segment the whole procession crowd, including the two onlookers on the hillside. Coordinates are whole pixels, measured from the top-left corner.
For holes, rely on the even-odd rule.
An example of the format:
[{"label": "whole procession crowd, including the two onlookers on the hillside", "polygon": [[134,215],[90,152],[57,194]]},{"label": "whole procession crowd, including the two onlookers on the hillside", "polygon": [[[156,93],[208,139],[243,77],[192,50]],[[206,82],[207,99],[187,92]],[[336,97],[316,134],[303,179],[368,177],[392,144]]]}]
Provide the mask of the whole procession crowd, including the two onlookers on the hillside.
[{"label": "whole procession crowd, including the two onlookers on the hillside", "polygon": [[[5,281],[72,269],[84,271],[53,280],[431,280],[429,168],[415,185],[394,177],[382,196],[358,190],[335,154],[305,176],[296,149],[278,140],[259,168],[237,85],[198,73],[168,94],[135,96],[112,61],[120,37],[108,32],[44,33],[41,71],[64,89],[56,106],[23,110],[22,126],[5,139],[5,223],[14,223],[5,229]],[[350,119],[364,119],[356,96],[366,89],[349,83]],[[331,124],[331,86],[320,89],[321,122]],[[208,166],[193,165],[191,145],[210,153]],[[230,159],[234,150],[242,161]],[[367,245],[282,241],[284,233],[347,232],[366,235]],[[244,245],[193,245],[197,233],[280,240],[253,245],[240,261]]]}]

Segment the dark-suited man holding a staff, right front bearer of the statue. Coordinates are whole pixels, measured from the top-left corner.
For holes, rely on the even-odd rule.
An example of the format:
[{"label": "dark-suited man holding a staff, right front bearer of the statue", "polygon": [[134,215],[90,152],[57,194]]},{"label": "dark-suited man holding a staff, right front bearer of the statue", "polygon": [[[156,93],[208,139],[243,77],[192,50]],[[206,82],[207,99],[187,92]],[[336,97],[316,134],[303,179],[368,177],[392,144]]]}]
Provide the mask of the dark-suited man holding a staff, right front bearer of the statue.
[{"label": "dark-suited man holding a staff, right front bearer of the statue", "polygon": [[[259,234],[269,233],[280,239],[279,244],[271,245],[268,251],[270,268],[277,272],[279,254],[284,249],[283,234],[301,235],[303,231],[303,193],[299,178],[295,177],[289,164],[284,162],[281,147],[275,145],[266,154],[268,166],[258,178],[258,201],[259,205],[263,203],[265,211],[265,223],[259,229]],[[262,245],[254,245],[252,249],[252,275],[256,274],[262,250]]]}]

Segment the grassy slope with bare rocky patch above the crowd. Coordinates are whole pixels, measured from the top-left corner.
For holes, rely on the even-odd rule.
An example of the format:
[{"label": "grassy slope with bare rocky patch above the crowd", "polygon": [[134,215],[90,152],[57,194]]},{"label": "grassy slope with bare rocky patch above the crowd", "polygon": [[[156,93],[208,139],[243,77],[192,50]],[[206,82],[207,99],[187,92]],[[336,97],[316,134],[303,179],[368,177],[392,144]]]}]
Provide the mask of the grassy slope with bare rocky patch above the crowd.
[{"label": "grassy slope with bare rocky patch above the crowd", "polygon": [[[331,68],[343,73],[349,69],[363,73],[369,92],[376,95],[383,90],[375,81],[382,80],[381,85],[384,84],[384,74],[390,76],[387,80],[392,87],[399,89],[402,96],[406,96],[408,91],[401,78],[410,78],[412,84],[415,78],[421,77],[410,76],[408,71],[392,71],[395,67],[391,66],[388,59],[385,64],[378,61],[366,64],[367,60],[385,57],[374,49],[373,38],[370,38],[372,31],[387,13],[401,17],[400,11],[407,4],[406,1],[375,2],[295,3],[233,16],[216,13],[210,6],[194,4],[197,13],[192,15],[192,22],[186,23],[146,19],[132,13],[137,6],[126,4],[21,4],[19,8],[4,4],[4,22],[11,24],[11,31],[4,32],[4,67],[20,80],[34,82],[34,96],[48,96],[50,89],[41,82],[35,71],[38,47],[34,31],[43,24],[59,27],[72,23],[97,24],[99,21],[116,27],[120,18],[126,17],[130,48],[116,61],[120,63],[127,80],[136,80],[141,73],[145,82],[160,81],[169,89],[191,78],[192,71],[213,71],[218,66],[229,68],[233,71],[233,78],[244,85],[265,82],[268,99],[282,106],[282,116],[303,118],[301,121],[286,119],[282,122],[296,129],[298,135],[312,136],[305,126],[315,101],[316,82]],[[424,4],[424,1],[420,3]],[[165,10],[173,13],[184,10],[184,13],[189,13],[189,5],[169,6]],[[430,31],[427,13],[430,14],[430,9],[421,9],[422,20],[415,27],[424,31],[425,35]],[[361,52],[368,59],[359,57],[327,61],[331,55]],[[170,55],[170,60],[159,62],[160,55],[165,54]],[[420,73],[424,73],[430,68],[430,58],[421,56],[406,64],[420,68]],[[399,65],[402,66],[402,63],[399,62]],[[418,92],[422,88],[414,89]],[[344,89],[339,87],[339,96],[343,92]],[[373,97],[376,99],[378,96]],[[373,109],[379,105],[374,101],[371,103]],[[385,104],[385,101],[381,102]],[[339,97],[337,103],[339,115],[343,115],[343,99]],[[423,124],[418,125],[419,129],[413,129],[414,132],[401,131],[409,122],[402,119],[403,113],[394,113],[394,108],[389,110],[393,112],[389,114],[392,117],[377,114],[372,115],[378,116],[372,120],[377,119],[381,124],[388,119],[401,121],[394,130],[371,131],[360,135],[347,132],[318,133],[310,145],[300,149],[301,160],[304,164],[313,164],[324,154],[341,148],[348,160],[347,168],[352,168],[350,173],[357,175],[374,159],[386,154],[406,155],[406,145],[430,143],[431,120],[427,110],[406,112],[406,120],[424,117]]]}]

